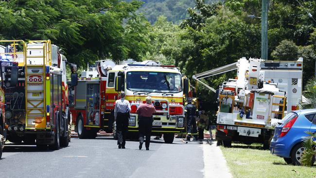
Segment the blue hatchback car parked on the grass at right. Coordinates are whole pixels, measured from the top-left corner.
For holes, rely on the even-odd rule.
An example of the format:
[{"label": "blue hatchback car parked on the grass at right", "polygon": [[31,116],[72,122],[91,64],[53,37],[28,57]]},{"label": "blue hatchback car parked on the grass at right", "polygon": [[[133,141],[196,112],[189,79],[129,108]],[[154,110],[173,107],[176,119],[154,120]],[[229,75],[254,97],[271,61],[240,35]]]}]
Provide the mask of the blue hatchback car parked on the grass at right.
[{"label": "blue hatchback car parked on the grass at right", "polygon": [[[304,151],[305,131],[316,132],[316,109],[296,110],[287,114],[276,126],[270,152],[282,157],[286,163],[300,165]],[[314,163],[315,158],[313,159]]]}]

